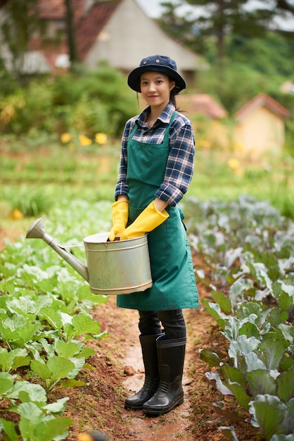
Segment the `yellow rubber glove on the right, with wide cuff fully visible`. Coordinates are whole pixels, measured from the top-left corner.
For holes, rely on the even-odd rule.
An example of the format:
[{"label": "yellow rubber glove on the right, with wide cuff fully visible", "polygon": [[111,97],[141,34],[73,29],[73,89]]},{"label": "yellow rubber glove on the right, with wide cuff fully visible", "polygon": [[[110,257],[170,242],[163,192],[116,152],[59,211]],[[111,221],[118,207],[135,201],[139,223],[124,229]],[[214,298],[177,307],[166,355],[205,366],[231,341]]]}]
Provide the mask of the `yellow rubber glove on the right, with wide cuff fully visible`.
[{"label": "yellow rubber glove on the right, with wide cuff fully visible", "polygon": [[154,230],[154,228],[161,225],[169,217],[169,213],[163,210],[162,212],[156,209],[154,201],[152,201],[146,209],[135,219],[128,228],[120,235],[120,240],[134,239],[134,237],[141,237],[146,232]]}]

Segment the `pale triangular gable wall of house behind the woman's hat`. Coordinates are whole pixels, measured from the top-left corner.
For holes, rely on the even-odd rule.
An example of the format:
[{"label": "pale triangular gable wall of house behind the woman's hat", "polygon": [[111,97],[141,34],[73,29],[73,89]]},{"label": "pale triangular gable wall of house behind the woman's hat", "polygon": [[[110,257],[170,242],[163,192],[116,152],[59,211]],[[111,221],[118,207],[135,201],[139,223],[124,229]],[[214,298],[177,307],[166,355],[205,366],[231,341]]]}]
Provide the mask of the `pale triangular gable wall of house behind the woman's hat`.
[{"label": "pale triangular gable wall of house behind the woman's hat", "polygon": [[196,54],[167,37],[135,0],[124,0],[98,35],[84,62],[89,68],[95,68],[97,61],[104,59],[114,68],[130,71],[142,58],[153,54],[174,58],[181,73],[200,68],[203,63]]}]

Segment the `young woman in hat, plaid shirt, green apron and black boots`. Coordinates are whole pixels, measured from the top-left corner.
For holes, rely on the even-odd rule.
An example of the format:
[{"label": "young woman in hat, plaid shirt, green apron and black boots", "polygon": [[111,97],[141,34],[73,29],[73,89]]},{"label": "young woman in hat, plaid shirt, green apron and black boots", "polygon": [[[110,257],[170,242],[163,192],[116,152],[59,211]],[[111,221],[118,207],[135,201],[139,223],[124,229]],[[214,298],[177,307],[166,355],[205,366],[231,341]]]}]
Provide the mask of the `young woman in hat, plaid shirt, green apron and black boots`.
[{"label": "young woman in hat, plaid shirt, green apron and black boots", "polygon": [[182,309],[198,308],[191,249],[177,206],[193,175],[195,139],[191,122],[176,110],[175,95],[186,83],[170,57],[143,58],[128,85],[148,107],[124,128],[110,240],[148,232],[153,286],[117,296],[117,306],[139,311],[145,367],[143,387],[125,406],[158,415],[184,401]]}]

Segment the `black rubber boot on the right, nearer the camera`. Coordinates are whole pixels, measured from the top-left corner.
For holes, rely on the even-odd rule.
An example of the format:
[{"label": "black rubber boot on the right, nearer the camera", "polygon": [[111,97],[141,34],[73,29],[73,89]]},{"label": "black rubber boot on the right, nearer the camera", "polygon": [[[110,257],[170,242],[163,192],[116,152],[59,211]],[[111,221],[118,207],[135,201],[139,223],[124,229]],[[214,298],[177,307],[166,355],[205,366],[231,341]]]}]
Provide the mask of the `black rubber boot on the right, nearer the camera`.
[{"label": "black rubber boot on the right, nearer the camera", "polygon": [[164,340],[159,337],[158,368],[160,383],[153,397],[143,404],[147,415],[167,414],[184,402],[184,390],[181,385],[183,377],[186,337],[175,340]]}]

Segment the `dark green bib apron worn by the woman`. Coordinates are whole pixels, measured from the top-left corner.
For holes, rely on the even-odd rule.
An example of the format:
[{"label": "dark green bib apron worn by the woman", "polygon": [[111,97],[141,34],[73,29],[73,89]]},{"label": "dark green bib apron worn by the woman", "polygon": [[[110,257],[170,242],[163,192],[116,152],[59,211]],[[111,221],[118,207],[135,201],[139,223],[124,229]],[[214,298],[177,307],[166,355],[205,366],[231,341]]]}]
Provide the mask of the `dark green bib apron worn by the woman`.
[{"label": "dark green bib apron worn by the woman", "polygon": [[[127,143],[127,184],[129,187],[129,222],[155,199],[165,177],[170,153],[169,129],[176,116],[174,112],[167,125],[162,144],[148,144],[133,138],[137,126]],[[167,206],[170,217],[148,233],[153,285],[143,292],[117,295],[117,306],[139,311],[167,311],[170,309],[198,308],[198,292],[193,271],[191,249],[178,206]],[[136,271],[136,262],[134,262]]]}]

